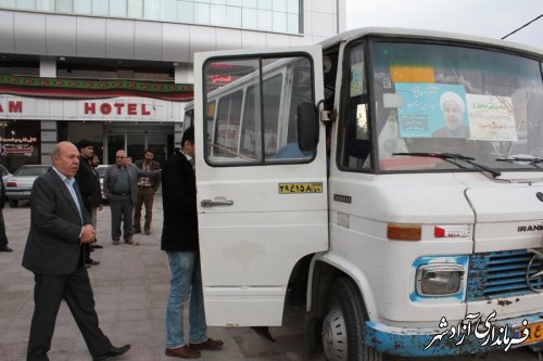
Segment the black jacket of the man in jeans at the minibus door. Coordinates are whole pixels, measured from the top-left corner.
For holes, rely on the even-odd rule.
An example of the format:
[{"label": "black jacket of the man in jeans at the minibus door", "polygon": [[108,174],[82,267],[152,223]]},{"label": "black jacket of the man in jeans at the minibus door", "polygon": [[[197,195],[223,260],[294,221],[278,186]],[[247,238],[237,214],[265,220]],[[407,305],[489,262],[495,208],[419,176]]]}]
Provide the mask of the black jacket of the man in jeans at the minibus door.
[{"label": "black jacket of the man in jeans at the minibus door", "polygon": [[162,250],[198,250],[197,182],[190,162],[179,149],[162,168],[164,227]]}]

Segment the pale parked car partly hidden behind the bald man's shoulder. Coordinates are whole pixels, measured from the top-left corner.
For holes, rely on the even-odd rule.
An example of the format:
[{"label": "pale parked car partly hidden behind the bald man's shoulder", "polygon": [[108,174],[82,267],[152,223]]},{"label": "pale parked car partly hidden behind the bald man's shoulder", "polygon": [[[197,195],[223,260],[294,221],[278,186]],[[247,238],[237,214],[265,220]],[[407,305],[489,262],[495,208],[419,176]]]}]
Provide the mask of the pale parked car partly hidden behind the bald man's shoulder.
[{"label": "pale parked car partly hidden behind the bald man's shoulder", "polygon": [[51,168],[50,165],[21,166],[13,176],[4,181],[5,195],[11,207],[18,206],[18,201],[30,199],[30,191],[36,178],[45,175]]}]

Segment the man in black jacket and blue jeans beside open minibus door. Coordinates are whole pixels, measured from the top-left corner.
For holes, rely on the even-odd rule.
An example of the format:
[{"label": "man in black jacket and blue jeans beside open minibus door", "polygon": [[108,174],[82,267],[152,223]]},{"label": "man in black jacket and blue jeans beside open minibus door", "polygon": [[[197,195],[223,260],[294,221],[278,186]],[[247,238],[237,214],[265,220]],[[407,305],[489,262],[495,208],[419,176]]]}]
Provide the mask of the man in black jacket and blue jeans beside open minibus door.
[{"label": "man in black jacket and blue jeans beside open minibus door", "polygon": [[[194,129],[181,138],[181,149],[162,169],[164,227],[161,249],[168,256],[172,281],[166,310],[166,354],[185,359],[200,357],[200,350],[218,350],[223,341],[207,338],[203,306],[202,271],[198,244]],[[189,337],[184,336],[182,309],[189,300]]]}]

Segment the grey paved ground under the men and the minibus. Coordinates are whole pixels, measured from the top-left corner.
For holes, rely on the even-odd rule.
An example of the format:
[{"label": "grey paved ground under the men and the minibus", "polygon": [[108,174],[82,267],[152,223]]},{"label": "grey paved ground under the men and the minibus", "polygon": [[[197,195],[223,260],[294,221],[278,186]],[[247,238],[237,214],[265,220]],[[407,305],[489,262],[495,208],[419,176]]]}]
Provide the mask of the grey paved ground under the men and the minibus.
[{"label": "grey paved ground under the men and the minibus", "polygon": [[[91,254],[99,266],[89,269],[101,327],[112,341],[132,348],[118,360],[161,361],[174,360],[164,356],[164,317],[168,292],[168,268],[165,254],[160,250],[162,204],[155,199],[152,235],[138,234],[140,246],[118,245],[110,242],[110,209],[99,212],[98,238],[103,249]],[[29,208],[7,207],[4,218],[11,254],[0,253],[0,361],[25,360],[30,318],[34,310],[30,272],[21,267],[28,232]],[[216,352],[203,352],[204,361],[296,361],[303,352],[303,313],[289,309],[285,326],[272,327],[276,343],[256,335],[251,328],[210,327],[209,335],[225,341]],[[70,311],[62,305],[58,318],[51,361],[90,360],[85,343]],[[325,358],[317,352],[312,361]],[[460,361],[469,358],[441,358],[441,361]],[[429,360],[388,358],[388,360]],[[507,353],[491,353],[488,360],[539,360],[529,349]]]}]

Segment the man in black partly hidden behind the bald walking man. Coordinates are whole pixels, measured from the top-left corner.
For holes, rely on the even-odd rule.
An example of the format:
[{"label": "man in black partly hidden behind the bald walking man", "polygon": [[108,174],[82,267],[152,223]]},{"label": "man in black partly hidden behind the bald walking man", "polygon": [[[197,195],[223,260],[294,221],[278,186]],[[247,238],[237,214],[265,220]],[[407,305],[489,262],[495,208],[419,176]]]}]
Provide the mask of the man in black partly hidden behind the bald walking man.
[{"label": "man in black partly hidden behind the bald walking man", "polygon": [[[80,140],[76,145],[79,150],[79,168],[75,175],[75,180],[79,186],[79,192],[81,192],[84,207],[90,215],[93,199],[97,196],[101,196],[100,194],[97,194],[94,172],[92,171],[92,167],[89,163],[92,154],[94,153],[94,147],[91,142],[85,139]],[[91,244],[84,245],[85,263],[89,266],[97,266],[100,262],[90,258],[91,247]],[[98,247],[101,248],[101,246]]]}]

